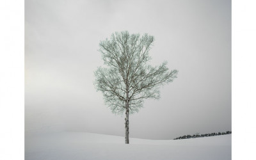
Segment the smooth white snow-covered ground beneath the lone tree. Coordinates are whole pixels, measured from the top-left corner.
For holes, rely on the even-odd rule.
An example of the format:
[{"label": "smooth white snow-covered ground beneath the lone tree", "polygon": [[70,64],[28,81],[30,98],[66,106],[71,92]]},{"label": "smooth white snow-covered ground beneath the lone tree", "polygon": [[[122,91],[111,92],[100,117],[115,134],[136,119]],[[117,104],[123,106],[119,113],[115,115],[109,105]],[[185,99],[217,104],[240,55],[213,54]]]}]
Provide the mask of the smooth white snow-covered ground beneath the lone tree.
[{"label": "smooth white snow-covered ground beneath the lone tree", "polygon": [[231,159],[231,134],[186,140],[143,140],[61,132],[25,138],[26,160],[78,159]]}]

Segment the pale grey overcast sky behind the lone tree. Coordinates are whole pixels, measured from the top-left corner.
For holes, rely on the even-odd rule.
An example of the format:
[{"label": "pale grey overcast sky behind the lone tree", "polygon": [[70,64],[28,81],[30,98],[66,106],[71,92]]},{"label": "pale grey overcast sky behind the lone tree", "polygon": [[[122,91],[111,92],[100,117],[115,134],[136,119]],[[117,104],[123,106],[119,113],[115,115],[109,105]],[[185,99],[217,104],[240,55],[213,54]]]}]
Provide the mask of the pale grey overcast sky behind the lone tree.
[{"label": "pale grey overcast sky behind the lone tree", "polygon": [[124,136],[124,116],[96,92],[99,49],[115,31],[155,37],[152,65],[178,78],[130,116],[133,138],[231,130],[231,1],[25,1],[26,135],[76,131]]}]

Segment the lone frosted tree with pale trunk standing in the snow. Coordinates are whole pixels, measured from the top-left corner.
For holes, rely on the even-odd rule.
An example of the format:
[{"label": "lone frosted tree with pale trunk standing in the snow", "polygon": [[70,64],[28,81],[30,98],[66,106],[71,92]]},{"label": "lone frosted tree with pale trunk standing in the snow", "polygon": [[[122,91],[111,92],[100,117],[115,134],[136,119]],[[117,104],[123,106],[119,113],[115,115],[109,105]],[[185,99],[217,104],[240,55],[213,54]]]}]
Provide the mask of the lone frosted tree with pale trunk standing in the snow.
[{"label": "lone frosted tree with pale trunk standing in the snow", "polygon": [[153,36],[122,31],[99,44],[106,67],[95,71],[95,86],[113,113],[125,112],[125,143],[129,143],[129,114],[138,112],[144,99],[159,99],[159,87],[177,77],[178,70],[169,71],[166,62],[157,67],[147,64],[153,42]]}]

